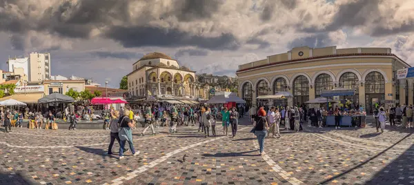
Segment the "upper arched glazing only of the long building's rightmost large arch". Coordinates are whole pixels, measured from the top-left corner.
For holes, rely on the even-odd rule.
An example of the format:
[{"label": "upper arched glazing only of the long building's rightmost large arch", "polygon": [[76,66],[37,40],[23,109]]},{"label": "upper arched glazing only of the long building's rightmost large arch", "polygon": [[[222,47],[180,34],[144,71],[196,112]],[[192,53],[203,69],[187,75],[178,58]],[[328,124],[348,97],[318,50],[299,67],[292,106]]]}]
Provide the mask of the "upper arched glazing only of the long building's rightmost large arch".
[{"label": "upper arched glazing only of the long building's rightmost large arch", "polygon": [[384,94],[385,79],[380,72],[370,72],[365,77],[365,94]]}]

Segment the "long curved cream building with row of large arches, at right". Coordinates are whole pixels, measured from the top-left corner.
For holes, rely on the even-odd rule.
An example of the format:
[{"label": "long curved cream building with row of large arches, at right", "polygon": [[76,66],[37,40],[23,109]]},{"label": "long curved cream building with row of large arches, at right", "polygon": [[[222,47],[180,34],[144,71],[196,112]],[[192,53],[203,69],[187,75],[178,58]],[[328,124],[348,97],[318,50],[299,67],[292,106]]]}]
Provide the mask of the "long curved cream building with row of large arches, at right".
[{"label": "long curved cream building with row of large arches, at right", "polygon": [[391,52],[391,48],[309,48],[307,46],[239,66],[239,96],[248,104],[260,95],[288,91],[294,95],[288,104],[302,104],[319,97],[322,90],[355,90],[350,99],[372,110],[378,102],[399,100],[413,104],[412,79],[397,80],[397,70],[411,67]]}]

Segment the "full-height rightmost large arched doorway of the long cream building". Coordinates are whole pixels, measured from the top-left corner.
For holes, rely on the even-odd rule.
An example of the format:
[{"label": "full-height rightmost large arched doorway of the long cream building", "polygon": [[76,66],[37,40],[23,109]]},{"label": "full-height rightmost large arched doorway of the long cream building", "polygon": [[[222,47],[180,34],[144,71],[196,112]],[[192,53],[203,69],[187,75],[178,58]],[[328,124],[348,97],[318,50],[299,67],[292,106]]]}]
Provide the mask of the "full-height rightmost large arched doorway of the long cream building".
[{"label": "full-height rightmost large arched doorway of the long cream building", "polygon": [[380,72],[370,72],[365,77],[366,112],[373,113],[375,104],[385,103],[385,79]]}]

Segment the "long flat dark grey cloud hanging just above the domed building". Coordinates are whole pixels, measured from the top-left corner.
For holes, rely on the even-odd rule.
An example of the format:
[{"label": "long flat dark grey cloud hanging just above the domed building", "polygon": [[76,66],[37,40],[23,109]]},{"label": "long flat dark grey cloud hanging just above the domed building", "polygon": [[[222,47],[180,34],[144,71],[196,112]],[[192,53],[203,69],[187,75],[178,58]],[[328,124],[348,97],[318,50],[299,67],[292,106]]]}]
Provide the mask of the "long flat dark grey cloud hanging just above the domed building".
[{"label": "long flat dark grey cloud hanging just above the domed building", "polygon": [[106,37],[119,41],[126,48],[140,46],[197,46],[210,50],[236,50],[239,42],[234,35],[223,33],[218,37],[190,35],[177,29],[155,27],[113,27],[106,32]]}]

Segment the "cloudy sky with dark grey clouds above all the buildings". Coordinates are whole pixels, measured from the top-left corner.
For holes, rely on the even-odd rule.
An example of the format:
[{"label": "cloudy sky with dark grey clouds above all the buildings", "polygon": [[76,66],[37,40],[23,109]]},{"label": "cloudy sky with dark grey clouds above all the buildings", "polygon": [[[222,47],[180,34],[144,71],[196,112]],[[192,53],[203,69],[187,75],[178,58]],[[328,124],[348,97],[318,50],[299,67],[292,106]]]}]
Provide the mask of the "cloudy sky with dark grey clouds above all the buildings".
[{"label": "cloudy sky with dark grey clouds above all the buildings", "polygon": [[197,72],[296,46],[387,47],[414,64],[413,0],[0,0],[0,61],[50,52],[52,75],[119,87],[148,52]]}]

